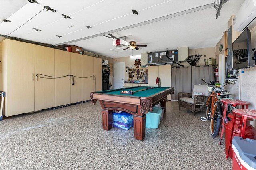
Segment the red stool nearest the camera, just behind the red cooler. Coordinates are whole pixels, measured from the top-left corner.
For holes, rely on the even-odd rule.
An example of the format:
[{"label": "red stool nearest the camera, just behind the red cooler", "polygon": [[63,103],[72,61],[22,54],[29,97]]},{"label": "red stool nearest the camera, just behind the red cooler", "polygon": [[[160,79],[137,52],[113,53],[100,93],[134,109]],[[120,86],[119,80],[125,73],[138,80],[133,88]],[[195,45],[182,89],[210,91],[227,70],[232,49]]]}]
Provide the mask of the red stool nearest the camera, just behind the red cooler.
[{"label": "red stool nearest the camera, just behind the red cooler", "polygon": [[231,135],[230,135],[230,142],[228,145],[228,153],[226,156],[226,159],[228,159],[229,149],[232,144],[232,138],[233,138],[233,130],[235,125],[236,116],[239,115],[242,117],[242,128],[241,128],[241,137],[244,138],[245,134],[245,127],[246,127],[246,120],[247,118],[256,119],[256,110],[250,110],[250,109],[234,109],[232,110],[234,114],[234,121],[232,122],[232,129],[231,129]]}]

